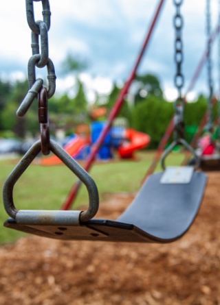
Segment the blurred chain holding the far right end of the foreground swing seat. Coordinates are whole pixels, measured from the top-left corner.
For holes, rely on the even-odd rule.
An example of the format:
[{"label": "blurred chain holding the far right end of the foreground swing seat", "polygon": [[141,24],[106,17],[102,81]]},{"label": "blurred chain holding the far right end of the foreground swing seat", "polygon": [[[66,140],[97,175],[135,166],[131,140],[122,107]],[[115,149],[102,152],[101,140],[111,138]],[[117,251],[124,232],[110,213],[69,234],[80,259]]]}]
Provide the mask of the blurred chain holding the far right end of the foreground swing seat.
[{"label": "blurred chain holding the far right end of the foreground swing seat", "polygon": [[181,89],[184,86],[184,75],[181,71],[181,66],[184,61],[183,53],[183,41],[182,28],[184,25],[184,19],[181,16],[180,8],[183,3],[183,0],[173,0],[175,4],[176,13],[173,19],[173,25],[175,27],[175,64],[176,64],[176,73],[174,77],[175,87],[178,91],[178,96],[175,101],[175,117],[174,117],[174,127],[175,127],[175,141],[184,138],[184,99],[181,96]]}]

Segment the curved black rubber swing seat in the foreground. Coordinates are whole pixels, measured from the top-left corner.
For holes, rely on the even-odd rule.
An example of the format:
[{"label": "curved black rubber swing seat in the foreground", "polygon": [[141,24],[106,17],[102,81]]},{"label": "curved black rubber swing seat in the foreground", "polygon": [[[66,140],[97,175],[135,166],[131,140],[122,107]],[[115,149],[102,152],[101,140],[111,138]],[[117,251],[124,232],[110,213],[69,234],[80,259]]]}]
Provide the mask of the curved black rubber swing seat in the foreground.
[{"label": "curved black rubber swing seat in the foreground", "polygon": [[[71,213],[76,211],[54,211],[57,214],[63,213],[64,216],[56,221],[56,225],[41,225],[30,217],[28,224],[25,221],[22,223],[21,219],[18,223],[16,219],[10,218],[4,225],[22,232],[61,240],[170,243],[183,236],[195,220],[203,199],[207,176],[203,172],[194,171],[188,183],[163,184],[162,175],[163,173],[155,173],[148,177],[131,206],[117,221],[91,219],[72,225]],[[70,220],[65,223],[65,219]]]}]

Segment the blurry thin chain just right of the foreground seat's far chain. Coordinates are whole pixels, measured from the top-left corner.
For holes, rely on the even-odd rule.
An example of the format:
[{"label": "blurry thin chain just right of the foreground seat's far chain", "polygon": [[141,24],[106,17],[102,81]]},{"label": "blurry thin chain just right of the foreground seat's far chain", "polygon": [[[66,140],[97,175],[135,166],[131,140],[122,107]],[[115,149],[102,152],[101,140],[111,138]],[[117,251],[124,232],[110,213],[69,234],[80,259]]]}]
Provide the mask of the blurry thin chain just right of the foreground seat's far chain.
[{"label": "blurry thin chain just right of the foreground seat's far chain", "polygon": [[210,0],[206,0],[206,35],[207,35],[207,74],[208,74],[208,123],[206,125],[206,130],[208,132],[212,131],[213,127],[213,105],[212,105],[212,95],[213,95],[213,81],[212,81],[212,58],[211,58],[211,46],[212,42],[210,40],[211,35],[211,14],[210,14]]}]

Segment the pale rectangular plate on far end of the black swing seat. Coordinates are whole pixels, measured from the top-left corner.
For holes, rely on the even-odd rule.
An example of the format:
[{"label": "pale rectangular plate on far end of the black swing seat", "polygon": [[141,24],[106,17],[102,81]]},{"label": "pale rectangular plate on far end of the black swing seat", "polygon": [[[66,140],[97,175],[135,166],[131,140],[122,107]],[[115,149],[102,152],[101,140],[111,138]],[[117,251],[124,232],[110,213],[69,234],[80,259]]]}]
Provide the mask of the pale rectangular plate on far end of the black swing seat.
[{"label": "pale rectangular plate on far end of the black swing seat", "polygon": [[167,167],[160,179],[162,184],[187,184],[190,183],[193,167]]}]

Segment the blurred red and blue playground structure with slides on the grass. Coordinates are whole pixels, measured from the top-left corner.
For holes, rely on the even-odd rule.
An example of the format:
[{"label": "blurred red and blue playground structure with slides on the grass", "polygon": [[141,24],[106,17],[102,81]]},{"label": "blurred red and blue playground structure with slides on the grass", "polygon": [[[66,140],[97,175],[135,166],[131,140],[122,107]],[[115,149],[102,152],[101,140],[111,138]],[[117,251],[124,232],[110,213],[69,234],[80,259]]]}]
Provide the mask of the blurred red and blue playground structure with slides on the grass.
[{"label": "blurred red and blue playground structure with slides on the grass", "polygon": [[[76,160],[87,160],[91,153],[91,145],[96,143],[105,125],[105,122],[94,122],[91,124],[90,135],[84,132],[80,135],[74,134],[65,145],[65,151]],[[113,158],[113,151],[117,151],[120,158],[133,158],[134,152],[147,147],[150,141],[151,137],[143,132],[137,132],[132,128],[113,126],[104,138],[96,158],[100,160],[111,159]],[[54,155],[40,160],[41,165],[61,163],[62,161]]]}]

